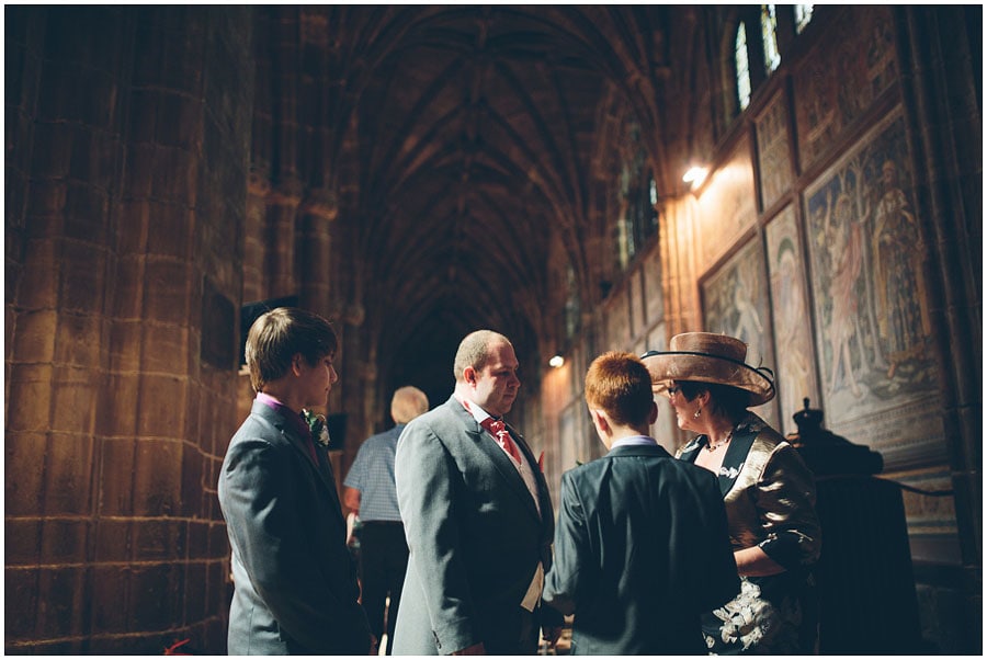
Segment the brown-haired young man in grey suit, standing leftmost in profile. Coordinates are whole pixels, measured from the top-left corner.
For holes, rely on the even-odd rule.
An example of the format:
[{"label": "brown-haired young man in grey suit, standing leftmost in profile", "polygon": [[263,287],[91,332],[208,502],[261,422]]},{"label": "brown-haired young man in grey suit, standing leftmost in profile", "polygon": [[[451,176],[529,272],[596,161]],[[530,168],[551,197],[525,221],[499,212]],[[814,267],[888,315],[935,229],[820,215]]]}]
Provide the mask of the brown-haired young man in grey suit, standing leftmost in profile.
[{"label": "brown-haired young man in grey suit, standing leftmost in profile", "polygon": [[339,379],[337,345],[324,318],[294,308],[264,314],[247,337],[258,395],[219,473],[232,550],[230,655],[372,649],[329,455],[300,417],[325,406]]}]

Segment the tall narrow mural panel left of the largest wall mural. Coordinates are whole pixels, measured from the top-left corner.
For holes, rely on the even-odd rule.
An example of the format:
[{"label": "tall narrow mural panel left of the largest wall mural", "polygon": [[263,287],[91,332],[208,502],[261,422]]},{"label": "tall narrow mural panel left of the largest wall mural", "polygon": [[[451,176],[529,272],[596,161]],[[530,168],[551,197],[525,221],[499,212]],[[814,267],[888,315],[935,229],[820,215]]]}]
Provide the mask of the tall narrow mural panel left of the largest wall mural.
[{"label": "tall narrow mural panel left of the largest wall mural", "polygon": [[818,408],[816,356],[813,350],[813,328],[809,316],[808,291],[805,283],[805,260],[795,209],[786,206],[765,227],[768,266],[771,273],[771,305],[774,310],[774,345],[776,348],[778,398],[781,408],[782,433],[798,431],[792,416],[805,406]]}]

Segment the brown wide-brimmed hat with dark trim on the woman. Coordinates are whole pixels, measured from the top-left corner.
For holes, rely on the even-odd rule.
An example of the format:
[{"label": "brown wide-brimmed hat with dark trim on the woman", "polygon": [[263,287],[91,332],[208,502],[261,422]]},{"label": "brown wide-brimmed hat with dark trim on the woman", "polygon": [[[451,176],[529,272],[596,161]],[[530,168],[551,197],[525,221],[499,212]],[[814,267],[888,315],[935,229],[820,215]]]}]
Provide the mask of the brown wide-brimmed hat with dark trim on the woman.
[{"label": "brown wide-brimmed hat with dark trim on the woman", "polygon": [[668,342],[668,351],[648,351],[640,356],[651,374],[651,389],[667,390],[673,380],[697,380],[729,385],[748,392],[749,406],[774,398],[774,375],[767,367],[745,362],[747,344],[713,332],[683,332]]}]

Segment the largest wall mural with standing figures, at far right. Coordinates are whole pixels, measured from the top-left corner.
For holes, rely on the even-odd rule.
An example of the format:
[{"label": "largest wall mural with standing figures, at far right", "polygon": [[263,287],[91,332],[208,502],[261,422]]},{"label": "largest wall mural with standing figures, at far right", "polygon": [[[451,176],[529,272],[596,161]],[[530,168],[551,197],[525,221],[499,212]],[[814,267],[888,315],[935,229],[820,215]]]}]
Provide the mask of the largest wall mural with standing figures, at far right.
[{"label": "largest wall mural with standing figures, at far right", "polygon": [[896,111],[806,191],[827,418],[896,450],[943,434],[911,162]]}]

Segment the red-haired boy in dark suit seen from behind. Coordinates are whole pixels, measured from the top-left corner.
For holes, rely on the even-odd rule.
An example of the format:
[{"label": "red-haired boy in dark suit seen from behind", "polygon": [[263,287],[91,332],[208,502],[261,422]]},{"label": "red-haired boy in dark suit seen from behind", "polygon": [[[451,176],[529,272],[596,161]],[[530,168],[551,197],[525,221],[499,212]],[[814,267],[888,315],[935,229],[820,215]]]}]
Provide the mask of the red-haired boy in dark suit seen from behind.
[{"label": "red-haired boy in dark suit seen from behind", "polygon": [[575,613],[574,655],[704,653],[700,615],[740,584],[716,477],[648,435],[651,377],[631,353],[594,360],[585,396],[609,453],[563,475],[545,602]]}]

